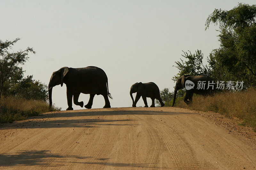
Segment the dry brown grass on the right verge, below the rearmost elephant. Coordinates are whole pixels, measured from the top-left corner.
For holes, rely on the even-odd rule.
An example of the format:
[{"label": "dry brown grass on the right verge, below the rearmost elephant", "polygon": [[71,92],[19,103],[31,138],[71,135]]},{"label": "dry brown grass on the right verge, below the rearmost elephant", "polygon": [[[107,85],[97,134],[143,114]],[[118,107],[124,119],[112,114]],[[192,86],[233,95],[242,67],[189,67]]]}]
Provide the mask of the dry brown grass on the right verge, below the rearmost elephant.
[{"label": "dry brown grass on the right verge, below the rearmost elephant", "polygon": [[208,97],[194,95],[192,104],[186,105],[180,100],[177,106],[238,117],[242,121],[241,124],[256,130],[256,88],[249,88],[243,92],[221,92]]}]

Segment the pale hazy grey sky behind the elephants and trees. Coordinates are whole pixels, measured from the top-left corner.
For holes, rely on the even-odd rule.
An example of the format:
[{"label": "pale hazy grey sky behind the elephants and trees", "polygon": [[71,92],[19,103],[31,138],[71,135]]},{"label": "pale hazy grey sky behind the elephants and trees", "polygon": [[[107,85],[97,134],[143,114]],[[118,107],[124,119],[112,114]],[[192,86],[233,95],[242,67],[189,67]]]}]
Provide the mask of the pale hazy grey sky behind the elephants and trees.
[{"label": "pale hazy grey sky behind the elephants and trees", "polygon": [[[173,91],[173,67],[182,50],[201,49],[205,58],[219,47],[216,27],[204,31],[215,8],[230,10],[238,2],[215,1],[6,1],[0,0],[0,39],[21,38],[15,49],[33,47],[36,55],[22,67],[25,75],[48,85],[61,67],[97,66],[108,76],[111,107],[130,107],[130,87],[155,82]],[[134,94],[135,97],[135,94]],[[80,94],[87,104],[89,94]],[[147,98],[148,105],[151,99]],[[66,85],[55,86],[52,102],[65,110]],[[92,108],[104,106],[95,96]],[[142,98],[137,106],[144,106]],[[81,109],[73,104],[74,109]],[[83,107],[84,109],[85,107]]]}]

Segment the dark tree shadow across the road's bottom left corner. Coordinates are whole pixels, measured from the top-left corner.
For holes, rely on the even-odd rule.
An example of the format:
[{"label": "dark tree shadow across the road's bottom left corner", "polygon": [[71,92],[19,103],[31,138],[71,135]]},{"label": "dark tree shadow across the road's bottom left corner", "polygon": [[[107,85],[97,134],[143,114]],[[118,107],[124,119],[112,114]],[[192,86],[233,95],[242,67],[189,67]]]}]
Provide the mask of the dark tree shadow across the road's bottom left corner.
[{"label": "dark tree shadow across the road's bottom left corner", "polygon": [[[56,159],[56,160],[55,160]],[[87,159],[92,159],[88,161]],[[88,165],[105,165],[114,167],[148,167],[149,164],[129,164],[129,163],[111,163],[106,162],[109,158],[92,158],[81,157],[76,155],[61,155],[50,153],[50,151],[20,151],[15,154],[0,154],[0,167],[20,167],[21,166],[43,166],[57,167],[65,166],[65,163],[72,164],[88,164]],[[85,161],[86,160],[86,161]],[[93,161],[94,160],[94,161]],[[49,165],[51,164],[51,165]],[[68,166],[68,165],[67,165]]]}]

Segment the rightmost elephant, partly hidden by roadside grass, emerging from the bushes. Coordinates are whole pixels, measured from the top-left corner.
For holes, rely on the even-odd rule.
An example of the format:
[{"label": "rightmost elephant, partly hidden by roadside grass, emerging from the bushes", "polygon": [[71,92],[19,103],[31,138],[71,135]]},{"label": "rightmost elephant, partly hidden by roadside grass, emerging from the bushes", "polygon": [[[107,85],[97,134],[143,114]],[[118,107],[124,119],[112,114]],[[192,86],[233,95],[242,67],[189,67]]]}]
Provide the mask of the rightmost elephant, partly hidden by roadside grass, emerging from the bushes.
[{"label": "rightmost elephant, partly hidden by roadside grass, emerging from the bushes", "polygon": [[[186,95],[184,97],[184,102],[186,104],[192,103],[194,93],[206,96],[211,94],[215,90],[213,79],[207,75],[201,75],[201,76],[183,75],[180,78],[178,78],[178,80],[176,81],[172,107],[174,106],[174,103],[175,103],[177,91],[180,89],[183,89],[185,87],[185,83],[192,84],[191,82],[194,83],[194,87],[191,89],[188,88],[188,90],[186,89]],[[199,88],[197,85],[200,85]],[[208,88],[208,85],[209,85],[209,88]]]}]

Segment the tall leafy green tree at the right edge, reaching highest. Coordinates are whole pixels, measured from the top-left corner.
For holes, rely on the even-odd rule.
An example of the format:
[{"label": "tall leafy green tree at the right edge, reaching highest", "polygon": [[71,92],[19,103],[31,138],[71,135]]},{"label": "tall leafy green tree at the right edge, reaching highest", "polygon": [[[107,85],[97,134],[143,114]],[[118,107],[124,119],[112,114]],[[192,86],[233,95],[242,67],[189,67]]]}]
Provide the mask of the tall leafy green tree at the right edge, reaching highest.
[{"label": "tall leafy green tree at the right edge, reaching highest", "polygon": [[206,20],[219,24],[220,48],[210,56],[210,67],[223,81],[243,80],[244,86],[256,85],[256,5],[239,3],[232,10],[215,9]]}]

